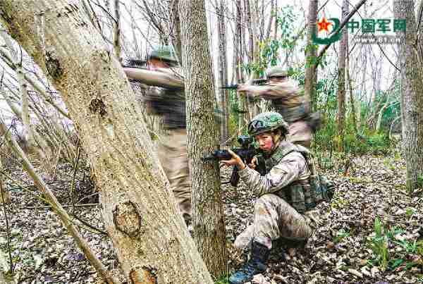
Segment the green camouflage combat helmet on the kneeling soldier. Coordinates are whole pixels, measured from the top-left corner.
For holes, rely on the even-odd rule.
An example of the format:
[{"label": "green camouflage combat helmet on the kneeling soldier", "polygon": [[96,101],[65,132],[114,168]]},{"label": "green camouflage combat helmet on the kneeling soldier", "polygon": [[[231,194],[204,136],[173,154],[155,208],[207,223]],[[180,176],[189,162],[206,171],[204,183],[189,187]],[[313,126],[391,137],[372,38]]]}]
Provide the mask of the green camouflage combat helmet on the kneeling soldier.
[{"label": "green camouflage combat helmet on the kneeling soldier", "polygon": [[283,120],[281,113],[266,111],[252,118],[248,125],[248,134],[255,136],[276,129],[281,129],[282,135],[286,135],[288,133],[288,123]]}]

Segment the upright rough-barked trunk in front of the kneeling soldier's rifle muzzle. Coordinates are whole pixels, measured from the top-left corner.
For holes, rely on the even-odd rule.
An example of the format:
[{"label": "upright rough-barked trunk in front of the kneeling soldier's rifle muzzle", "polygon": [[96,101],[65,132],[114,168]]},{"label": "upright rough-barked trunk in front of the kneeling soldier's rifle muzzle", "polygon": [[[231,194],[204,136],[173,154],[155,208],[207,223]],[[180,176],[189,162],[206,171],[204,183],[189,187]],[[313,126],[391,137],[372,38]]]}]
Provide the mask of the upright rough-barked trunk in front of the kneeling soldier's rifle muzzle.
[{"label": "upright rough-barked trunk in front of the kneeling soldier's rifle muzzle", "polygon": [[179,15],[185,70],[194,238],[209,271],[219,277],[226,272],[228,256],[219,166],[218,163],[201,159],[219,143],[214,128],[213,69],[204,0],[180,1]]}]

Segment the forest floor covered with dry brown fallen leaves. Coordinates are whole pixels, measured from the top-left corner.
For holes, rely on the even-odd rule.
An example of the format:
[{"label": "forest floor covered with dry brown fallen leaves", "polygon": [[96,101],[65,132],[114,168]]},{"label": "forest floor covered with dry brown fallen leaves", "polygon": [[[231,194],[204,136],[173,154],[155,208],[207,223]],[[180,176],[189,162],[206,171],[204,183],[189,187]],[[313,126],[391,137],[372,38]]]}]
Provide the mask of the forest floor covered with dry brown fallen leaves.
[{"label": "forest floor covered with dry brown fallen leaves", "polygon": [[[364,155],[348,159],[324,159],[324,175],[338,184],[331,204],[320,204],[324,219],[305,248],[293,244],[272,249],[268,269],[252,283],[423,283],[423,190],[405,190],[405,163],[397,152],[385,156]],[[61,165],[56,178],[47,184],[68,212],[104,230],[97,195],[83,171],[76,174],[75,195],[70,194],[73,168]],[[223,171],[223,181],[230,171]],[[86,173],[86,172],[85,172]],[[17,167],[6,180],[12,202],[0,210],[0,249],[9,259],[19,283],[96,283],[97,273],[59,218]],[[18,183],[18,185],[16,184]],[[24,188],[24,190],[23,190]],[[88,196],[92,195],[92,196]],[[85,199],[84,199],[85,198]],[[84,200],[80,200],[84,199]],[[223,185],[226,233],[229,242],[252,221],[256,197],[242,184]],[[380,222],[379,222],[380,221]],[[75,220],[76,223],[80,221]],[[80,233],[103,264],[116,272],[118,261],[107,235],[82,226]],[[246,253],[233,253],[230,265],[240,267]],[[123,280],[123,278],[122,278]],[[223,280],[219,283],[225,283]]]}]

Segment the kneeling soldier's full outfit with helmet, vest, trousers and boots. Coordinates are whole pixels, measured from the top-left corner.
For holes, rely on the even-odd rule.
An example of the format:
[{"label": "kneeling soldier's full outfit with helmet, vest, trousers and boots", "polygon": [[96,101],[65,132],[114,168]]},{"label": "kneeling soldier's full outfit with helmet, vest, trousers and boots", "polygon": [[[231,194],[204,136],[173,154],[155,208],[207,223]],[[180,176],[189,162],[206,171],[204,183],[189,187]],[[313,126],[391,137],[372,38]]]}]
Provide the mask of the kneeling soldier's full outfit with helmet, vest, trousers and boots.
[{"label": "kneeling soldier's full outfit with helmet, vest, trousers and boots", "polygon": [[[248,132],[256,136],[280,129],[283,138],[287,128],[281,114],[270,111],[253,118]],[[309,153],[305,147],[282,140],[270,153],[264,154],[266,175],[248,166],[238,171],[259,199],[255,202],[254,223],[235,240],[238,247],[251,244],[251,258],[232,274],[231,284],[245,283],[266,270],[272,240],[284,237],[304,241],[317,227],[314,221],[318,212],[310,214],[312,211],[307,211],[311,208],[307,205],[312,204],[312,197],[309,165],[303,153]]]}]

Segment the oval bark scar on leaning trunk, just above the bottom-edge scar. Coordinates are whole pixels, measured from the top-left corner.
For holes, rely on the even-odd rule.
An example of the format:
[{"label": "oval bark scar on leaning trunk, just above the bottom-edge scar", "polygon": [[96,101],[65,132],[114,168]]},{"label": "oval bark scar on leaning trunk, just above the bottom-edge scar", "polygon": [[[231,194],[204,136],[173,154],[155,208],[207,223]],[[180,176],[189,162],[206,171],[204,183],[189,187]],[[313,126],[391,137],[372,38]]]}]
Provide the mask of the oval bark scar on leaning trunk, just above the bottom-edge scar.
[{"label": "oval bark scar on leaning trunk, just above the bottom-edge scar", "polygon": [[135,205],[128,200],[116,205],[113,211],[113,223],[122,233],[135,237],[140,233],[141,216]]}]

